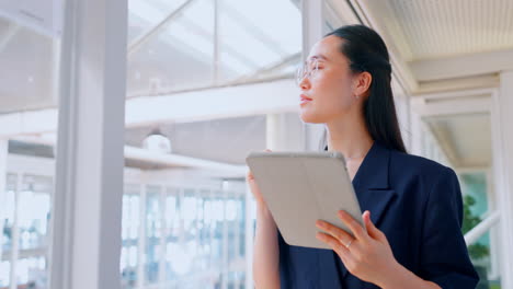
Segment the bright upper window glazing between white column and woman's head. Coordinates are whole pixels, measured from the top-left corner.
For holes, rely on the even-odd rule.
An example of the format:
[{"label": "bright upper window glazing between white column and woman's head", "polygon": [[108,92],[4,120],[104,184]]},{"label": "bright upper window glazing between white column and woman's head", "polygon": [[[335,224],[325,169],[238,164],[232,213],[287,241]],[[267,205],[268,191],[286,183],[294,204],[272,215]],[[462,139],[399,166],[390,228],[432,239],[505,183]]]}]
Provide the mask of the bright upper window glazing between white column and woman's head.
[{"label": "bright upper window glazing between white column and woman's head", "polygon": [[129,96],[292,78],[300,61],[294,1],[130,0],[129,11],[130,44],[172,15],[146,42],[129,46]]}]

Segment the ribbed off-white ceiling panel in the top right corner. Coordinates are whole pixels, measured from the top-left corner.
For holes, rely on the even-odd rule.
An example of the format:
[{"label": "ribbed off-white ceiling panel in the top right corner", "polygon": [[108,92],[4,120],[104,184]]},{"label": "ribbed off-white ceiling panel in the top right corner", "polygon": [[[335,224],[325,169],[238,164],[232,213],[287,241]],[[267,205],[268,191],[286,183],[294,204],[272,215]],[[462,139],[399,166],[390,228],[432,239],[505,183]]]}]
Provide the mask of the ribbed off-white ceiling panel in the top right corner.
[{"label": "ribbed off-white ceiling panel in the top right corner", "polygon": [[513,48],[511,0],[387,0],[406,61]]}]

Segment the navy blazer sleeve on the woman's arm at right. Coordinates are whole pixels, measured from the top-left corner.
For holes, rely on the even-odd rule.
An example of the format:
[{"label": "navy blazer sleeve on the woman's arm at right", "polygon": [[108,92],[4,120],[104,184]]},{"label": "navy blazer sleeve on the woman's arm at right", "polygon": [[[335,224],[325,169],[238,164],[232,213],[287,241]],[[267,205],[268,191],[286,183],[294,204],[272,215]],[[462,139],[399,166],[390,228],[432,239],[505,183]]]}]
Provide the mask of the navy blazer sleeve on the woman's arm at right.
[{"label": "navy blazer sleeve on the woman's arm at right", "polygon": [[424,211],[421,270],[443,289],[474,289],[479,277],[461,233],[461,190],[453,170],[444,167],[429,192]]}]

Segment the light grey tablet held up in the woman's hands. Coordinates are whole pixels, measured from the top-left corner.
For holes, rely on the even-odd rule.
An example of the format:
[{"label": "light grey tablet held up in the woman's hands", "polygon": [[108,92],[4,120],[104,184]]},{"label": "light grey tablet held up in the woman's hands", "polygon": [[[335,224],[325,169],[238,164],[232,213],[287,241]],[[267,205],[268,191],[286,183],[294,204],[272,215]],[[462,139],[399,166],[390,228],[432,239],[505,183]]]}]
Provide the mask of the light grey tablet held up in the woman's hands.
[{"label": "light grey tablet held up in the woman's hands", "polygon": [[316,239],[316,221],[328,221],[351,233],[339,219],[339,210],[364,227],[342,153],[252,152],[246,162],[287,244],[330,248]]}]

